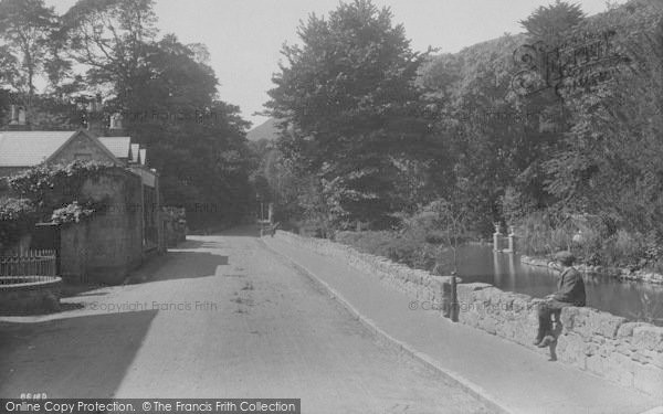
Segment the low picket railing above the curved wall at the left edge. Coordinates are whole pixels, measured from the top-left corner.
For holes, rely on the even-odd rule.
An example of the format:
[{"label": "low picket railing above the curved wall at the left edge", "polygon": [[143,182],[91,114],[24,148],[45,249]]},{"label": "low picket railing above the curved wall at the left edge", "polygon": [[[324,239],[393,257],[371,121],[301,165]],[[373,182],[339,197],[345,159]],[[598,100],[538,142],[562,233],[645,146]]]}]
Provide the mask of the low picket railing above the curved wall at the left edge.
[{"label": "low picket railing above the curved wall at the left edge", "polygon": [[31,250],[0,256],[0,276],[56,276],[56,253]]}]

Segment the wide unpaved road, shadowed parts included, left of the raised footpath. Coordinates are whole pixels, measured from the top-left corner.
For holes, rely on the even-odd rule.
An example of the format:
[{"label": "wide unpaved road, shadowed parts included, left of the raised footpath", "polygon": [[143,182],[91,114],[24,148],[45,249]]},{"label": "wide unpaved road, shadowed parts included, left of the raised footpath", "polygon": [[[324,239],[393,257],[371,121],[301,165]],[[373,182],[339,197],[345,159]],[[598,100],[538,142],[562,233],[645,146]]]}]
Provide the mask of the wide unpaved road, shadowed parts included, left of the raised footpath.
[{"label": "wide unpaved road, shadowed parts included, left of the raised footpath", "polygon": [[[0,397],[297,397],[303,413],[485,406],[379,344],[249,230],[190,236],[81,309],[0,322]],[[72,305],[74,306],[74,305]]]}]

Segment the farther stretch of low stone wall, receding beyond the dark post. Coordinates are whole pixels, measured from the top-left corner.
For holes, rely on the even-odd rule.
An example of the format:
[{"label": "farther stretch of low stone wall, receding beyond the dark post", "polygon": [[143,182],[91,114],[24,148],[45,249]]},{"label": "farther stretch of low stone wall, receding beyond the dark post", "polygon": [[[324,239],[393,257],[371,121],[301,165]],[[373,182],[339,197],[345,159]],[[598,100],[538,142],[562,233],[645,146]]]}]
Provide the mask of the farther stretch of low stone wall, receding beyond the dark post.
[{"label": "farther stretch of low stone wall, receding beyond the dark post", "polygon": [[277,231],[275,237],[343,261],[357,270],[375,276],[379,282],[408,294],[413,299],[435,304],[434,309],[441,312],[448,310],[448,304],[451,301],[451,277],[449,276],[433,276],[425,270],[413,269],[385,257],[360,253],[350,246],[326,238],[302,237],[284,231]]}]

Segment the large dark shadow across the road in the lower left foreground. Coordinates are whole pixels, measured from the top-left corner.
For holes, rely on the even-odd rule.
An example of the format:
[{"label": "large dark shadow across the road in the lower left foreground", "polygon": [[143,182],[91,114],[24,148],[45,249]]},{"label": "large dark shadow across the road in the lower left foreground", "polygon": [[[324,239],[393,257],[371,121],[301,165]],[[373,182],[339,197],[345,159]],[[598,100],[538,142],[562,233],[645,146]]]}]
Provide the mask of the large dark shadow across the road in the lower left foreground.
[{"label": "large dark shadow across the road in the lower left foreground", "polygon": [[156,310],[40,323],[0,322],[0,397],[110,397]]}]

